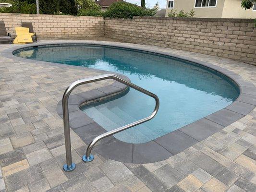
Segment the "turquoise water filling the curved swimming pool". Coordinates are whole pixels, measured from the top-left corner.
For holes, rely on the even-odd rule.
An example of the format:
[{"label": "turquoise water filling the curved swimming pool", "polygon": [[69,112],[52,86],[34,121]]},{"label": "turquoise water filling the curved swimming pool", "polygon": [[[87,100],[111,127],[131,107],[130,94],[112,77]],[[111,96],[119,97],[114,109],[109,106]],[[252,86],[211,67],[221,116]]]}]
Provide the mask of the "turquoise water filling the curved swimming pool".
[{"label": "turquoise water filling the curved swimming pool", "polygon": [[[118,72],[158,95],[157,116],[115,134],[123,142],[145,143],[230,105],[239,90],[224,75],[192,62],[130,49],[95,46],[42,47],[16,56]],[[207,56],[206,56],[207,57]],[[134,89],[81,108],[107,131],[149,115],[155,101]]]}]

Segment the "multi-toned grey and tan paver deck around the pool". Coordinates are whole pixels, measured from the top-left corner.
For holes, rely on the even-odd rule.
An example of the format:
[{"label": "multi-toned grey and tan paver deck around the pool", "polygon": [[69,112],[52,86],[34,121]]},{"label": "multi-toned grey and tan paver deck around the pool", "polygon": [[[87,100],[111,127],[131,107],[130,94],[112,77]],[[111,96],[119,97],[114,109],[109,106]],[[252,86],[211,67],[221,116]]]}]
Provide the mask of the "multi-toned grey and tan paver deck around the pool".
[{"label": "multi-toned grey and tan paver deck around the pool", "polygon": [[[53,42],[94,41],[39,40],[38,44]],[[245,82],[242,86],[249,96],[245,95],[242,102],[249,107],[256,105],[255,88],[251,86],[256,85],[256,66],[170,48],[116,45],[181,55],[227,69],[238,74],[242,84]],[[7,49],[14,47],[22,46],[0,44],[0,192],[256,191],[256,108],[248,111],[247,107],[239,113],[241,119],[235,119],[228,126],[222,124],[219,132],[176,155],[149,164],[122,163],[98,155],[94,150],[95,160],[85,164],[81,156],[87,144],[71,130],[76,168],[73,172],[64,172],[63,121],[57,105],[70,83],[101,72],[5,55]],[[74,93],[104,90],[110,84],[113,81],[92,83],[78,87]]]}]

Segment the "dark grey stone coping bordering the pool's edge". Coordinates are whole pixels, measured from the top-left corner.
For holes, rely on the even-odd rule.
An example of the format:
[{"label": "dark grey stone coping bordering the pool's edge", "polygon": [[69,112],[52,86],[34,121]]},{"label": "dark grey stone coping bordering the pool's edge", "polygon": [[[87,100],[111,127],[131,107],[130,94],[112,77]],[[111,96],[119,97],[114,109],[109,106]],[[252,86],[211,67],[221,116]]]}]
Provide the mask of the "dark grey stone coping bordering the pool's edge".
[{"label": "dark grey stone coping bordering the pool's edge", "polygon": [[[207,68],[213,69],[217,72],[224,74],[225,76],[232,79],[240,89],[240,95],[238,98],[226,108],[220,109],[215,113],[212,113],[200,120],[192,122],[178,130],[170,132],[166,135],[158,137],[155,140],[144,144],[130,144],[122,142],[116,139],[113,136],[103,139],[100,141],[93,149],[93,152],[97,152],[98,154],[113,159],[117,161],[121,161],[123,163],[153,163],[157,161],[161,161],[169,158],[170,156],[176,155],[183,151],[184,149],[200,142],[212,134],[222,130],[226,126],[232,124],[236,120],[241,119],[245,115],[247,115],[250,111],[252,111],[256,107],[256,87],[254,84],[248,81],[244,81],[242,77],[235,72],[231,72],[222,67],[216,66],[214,64],[190,59],[187,57],[179,56],[176,54],[172,54],[168,51],[159,51],[152,48],[147,48],[145,45],[138,44],[129,44],[125,45],[118,42],[103,42],[103,41],[82,41],[81,43],[77,41],[59,41],[58,43],[37,43],[37,44],[28,44],[21,46],[19,48],[8,48],[1,52],[1,55],[7,57],[12,60],[19,60],[25,62],[32,62],[44,65],[54,65],[61,68],[69,67],[79,70],[98,72],[98,73],[114,73],[107,72],[92,68],[85,68],[81,66],[72,66],[66,64],[59,63],[51,63],[45,61],[37,61],[37,60],[28,60],[24,58],[19,58],[12,55],[12,52],[27,47],[34,46],[46,46],[46,45],[63,45],[63,44],[92,44],[92,45],[102,45],[102,46],[111,46],[117,48],[129,48],[134,50],[142,50],[150,53],[162,54],[165,56],[171,56],[174,58],[187,60],[191,62],[195,62],[197,64],[203,65]],[[114,73],[117,74],[117,73]],[[118,74],[122,78],[126,78],[124,75]],[[73,131],[85,142],[85,144],[89,144],[92,139],[98,136],[101,133],[107,132],[105,129],[100,127],[95,121],[89,118],[85,112],[80,110],[80,106],[84,104],[86,101],[94,101],[99,99],[105,99],[110,96],[114,96],[125,91],[127,87],[118,82],[114,82],[113,84],[107,85],[105,87],[101,87],[98,89],[90,90],[84,93],[75,94],[71,96],[69,100],[69,109],[70,109],[70,127]],[[61,101],[57,105],[57,113],[61,116],[62,108]],[[181,142],[182,141],[182,142]]]}]

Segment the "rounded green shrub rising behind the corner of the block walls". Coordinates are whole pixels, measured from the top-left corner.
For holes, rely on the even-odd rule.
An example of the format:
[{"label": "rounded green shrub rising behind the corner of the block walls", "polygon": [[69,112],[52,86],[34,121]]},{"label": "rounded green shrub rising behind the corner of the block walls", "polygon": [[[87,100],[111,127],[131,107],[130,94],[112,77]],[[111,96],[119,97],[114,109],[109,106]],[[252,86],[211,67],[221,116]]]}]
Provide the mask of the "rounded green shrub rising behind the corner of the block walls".
[{"label": "rounded green shrub rising behind the corner of the block walls", "polygon": [[102,15],[110,18],[133,18],[133,16],[154,16],[155,14],[155,9],[142,8],[125,1],[119,1],[111,4]]}]

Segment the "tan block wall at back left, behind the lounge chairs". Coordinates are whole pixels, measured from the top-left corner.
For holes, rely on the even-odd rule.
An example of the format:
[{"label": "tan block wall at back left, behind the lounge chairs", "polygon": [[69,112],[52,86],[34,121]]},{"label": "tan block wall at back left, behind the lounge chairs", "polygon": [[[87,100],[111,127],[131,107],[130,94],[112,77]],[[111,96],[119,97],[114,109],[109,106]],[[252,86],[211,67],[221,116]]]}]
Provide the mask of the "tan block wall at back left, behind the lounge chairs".
[{"label": "tan block wall at back left, behind the lounge chairs", "polygon": [[38,38],[104,36],[102,17],[0,13],[0,20],[12,37],[16,36],[15,27],[21,26],[21,22],[31,22]]}]

